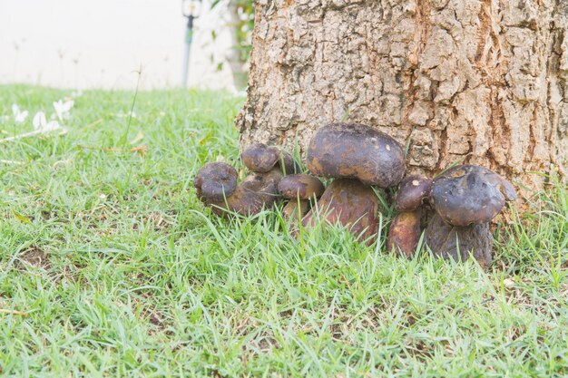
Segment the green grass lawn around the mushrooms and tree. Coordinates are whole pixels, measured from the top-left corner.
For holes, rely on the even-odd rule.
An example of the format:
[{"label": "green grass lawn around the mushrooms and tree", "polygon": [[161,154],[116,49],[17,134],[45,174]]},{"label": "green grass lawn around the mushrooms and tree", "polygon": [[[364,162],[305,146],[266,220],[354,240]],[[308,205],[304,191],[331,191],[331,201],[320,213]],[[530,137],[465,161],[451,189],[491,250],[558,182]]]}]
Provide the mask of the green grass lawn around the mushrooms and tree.
[{"label": "green grass lawn around the mushrooms and tree", "polygon": [[[69,94],[0,87],[0,115]],[[132,98],[84,92],[67,134],[0,143],[24,162],[0,162],[0,375],[568,374],[560,184],[496,230],[487,272],[392,257],[386,228],[373,247],[298,242],[278,211],[222,220],[195,198],[204,162],[238,160],[241,99],[140,92],[129,129]],[[0,138],[31,130],[0,121]]]}]

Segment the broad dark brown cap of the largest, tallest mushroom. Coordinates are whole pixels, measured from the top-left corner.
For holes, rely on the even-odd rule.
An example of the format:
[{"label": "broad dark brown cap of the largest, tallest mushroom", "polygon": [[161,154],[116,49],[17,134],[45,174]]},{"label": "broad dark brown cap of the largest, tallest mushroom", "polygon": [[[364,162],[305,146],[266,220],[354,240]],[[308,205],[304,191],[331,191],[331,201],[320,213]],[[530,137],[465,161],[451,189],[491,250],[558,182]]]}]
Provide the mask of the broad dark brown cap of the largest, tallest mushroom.
[{"label": "broad dark brown cap of the largest, tallest mushroom", "polygon": [[402,147],[384,132],[359,123],[332,123],[308,146],[308,169],[316,176],[358,179],[389,188],[405,175]]}]

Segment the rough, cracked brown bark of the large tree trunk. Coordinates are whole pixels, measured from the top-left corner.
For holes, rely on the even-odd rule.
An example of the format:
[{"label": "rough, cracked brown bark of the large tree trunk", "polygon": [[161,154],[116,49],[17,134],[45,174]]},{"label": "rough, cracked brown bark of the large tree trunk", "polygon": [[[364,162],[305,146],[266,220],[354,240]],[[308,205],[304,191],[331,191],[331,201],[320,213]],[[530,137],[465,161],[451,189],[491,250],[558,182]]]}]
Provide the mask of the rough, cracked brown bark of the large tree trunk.
[{"label": "rough, cracked brown bark of the large tree trunk", "polygon": [[358,121],[429,176],[456,161],[529,188],[568,166],[567,0],[260,0],[237,126],[306,150]]}]

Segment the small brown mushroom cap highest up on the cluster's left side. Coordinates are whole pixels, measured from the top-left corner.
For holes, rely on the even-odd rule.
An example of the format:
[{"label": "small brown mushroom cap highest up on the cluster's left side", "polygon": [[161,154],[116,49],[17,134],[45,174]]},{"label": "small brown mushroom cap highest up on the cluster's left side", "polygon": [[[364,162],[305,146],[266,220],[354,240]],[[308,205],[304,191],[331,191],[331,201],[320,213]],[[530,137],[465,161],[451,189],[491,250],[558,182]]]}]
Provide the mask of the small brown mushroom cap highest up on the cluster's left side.
[{"label": "small brown mushroom cap highest up on the cluster's left side", "polygon": [[294,173],[297,168],[288,152],[264,143],[250,145],[242,152],[241,158],[245,167],[256,173],[266,173],[276,165],[286,174]]}]

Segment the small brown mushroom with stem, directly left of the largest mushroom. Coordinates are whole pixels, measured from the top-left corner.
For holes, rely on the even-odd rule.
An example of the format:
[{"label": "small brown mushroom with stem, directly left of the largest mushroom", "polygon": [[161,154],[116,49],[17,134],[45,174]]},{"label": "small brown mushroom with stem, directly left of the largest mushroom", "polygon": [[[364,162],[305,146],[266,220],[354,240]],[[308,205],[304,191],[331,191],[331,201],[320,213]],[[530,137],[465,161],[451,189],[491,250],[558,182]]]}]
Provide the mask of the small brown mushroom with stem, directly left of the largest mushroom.
[{"label": "small brown mushroom with stem, directly left of the largest mushroom", "polygon": [[309,199],[318,199],[325,188],[317,177],[297,174],[280,179],[278,189],[280,196],[289,199],[282,208],[284,217],[291,218],[297,215],[302,218],[308,212]]}]

